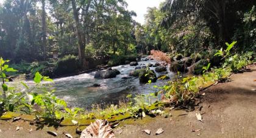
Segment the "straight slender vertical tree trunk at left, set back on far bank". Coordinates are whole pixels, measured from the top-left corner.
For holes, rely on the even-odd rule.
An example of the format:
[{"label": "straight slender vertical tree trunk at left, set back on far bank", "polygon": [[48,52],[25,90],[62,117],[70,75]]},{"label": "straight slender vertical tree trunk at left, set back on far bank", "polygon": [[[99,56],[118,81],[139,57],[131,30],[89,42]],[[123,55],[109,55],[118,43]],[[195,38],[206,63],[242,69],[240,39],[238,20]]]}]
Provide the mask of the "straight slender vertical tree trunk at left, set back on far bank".
[{"label": "straight slender vertical tree trunk at left, set back on far bank", "polygon": [[45,13],[45,0],[42,0],[42,49],[43,59],[46,59],[46,13]]}]

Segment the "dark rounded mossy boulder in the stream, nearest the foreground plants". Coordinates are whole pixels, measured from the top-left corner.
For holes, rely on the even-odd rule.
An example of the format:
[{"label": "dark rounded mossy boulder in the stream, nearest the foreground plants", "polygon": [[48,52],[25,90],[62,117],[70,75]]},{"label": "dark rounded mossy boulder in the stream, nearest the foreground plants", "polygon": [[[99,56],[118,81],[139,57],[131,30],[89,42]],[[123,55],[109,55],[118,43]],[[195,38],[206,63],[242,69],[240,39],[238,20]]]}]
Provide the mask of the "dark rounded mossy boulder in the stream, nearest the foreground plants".
[{"label": "dark rounded mossy boulder in the stream, nearest the foreground plants", "polygon": [[139,79],[141,83],[148,83],[149,80],[151,80],[151,82],[156,82],[157,76],[153,70],[143,70],[140,71]]}]

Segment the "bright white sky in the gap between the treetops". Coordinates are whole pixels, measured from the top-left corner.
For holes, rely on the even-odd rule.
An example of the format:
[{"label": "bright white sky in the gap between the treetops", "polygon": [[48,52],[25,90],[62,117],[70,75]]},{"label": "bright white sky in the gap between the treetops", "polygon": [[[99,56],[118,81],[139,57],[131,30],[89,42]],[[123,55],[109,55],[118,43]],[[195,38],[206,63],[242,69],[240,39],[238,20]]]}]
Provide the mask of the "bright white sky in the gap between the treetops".
[{"label": "bright white sky in the gap between the treetops", "polygon": [[[160,2],[165,0],[126,0],[128,3],[128,10],[133,10],[137,13],[137,17],[135,17],[135,21],[144,24],[144,15],[147,13],[148,7],[158,7]],[[0,0],[0,4],[3,3],[4,0]]]}]

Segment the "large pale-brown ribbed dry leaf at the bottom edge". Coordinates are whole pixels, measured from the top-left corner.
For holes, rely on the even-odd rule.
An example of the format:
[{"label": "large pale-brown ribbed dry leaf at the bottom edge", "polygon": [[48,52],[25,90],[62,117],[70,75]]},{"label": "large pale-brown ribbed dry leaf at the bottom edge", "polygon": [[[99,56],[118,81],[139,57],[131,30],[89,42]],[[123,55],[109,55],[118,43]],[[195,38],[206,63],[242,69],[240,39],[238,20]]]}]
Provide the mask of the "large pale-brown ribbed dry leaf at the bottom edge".
[{"label": "large pale-brown ribbed dry leaf at the bottom edge", "polygon": [[104,137],[104,138],[114,138],[112,128],[108,125],[107,120],[96,120],[91,123],[85,130],[82,131],[80,138],[93,138],[93,137]]}]

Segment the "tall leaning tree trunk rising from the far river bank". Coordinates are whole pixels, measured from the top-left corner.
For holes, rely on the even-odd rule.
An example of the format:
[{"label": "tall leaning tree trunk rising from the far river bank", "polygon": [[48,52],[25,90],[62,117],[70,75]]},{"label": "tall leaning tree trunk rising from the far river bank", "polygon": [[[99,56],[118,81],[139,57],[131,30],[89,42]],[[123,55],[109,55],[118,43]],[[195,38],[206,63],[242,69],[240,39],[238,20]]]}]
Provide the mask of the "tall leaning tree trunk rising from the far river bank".
[{"label": "tall leaning tree trunk rising from the far river bank", "polygon": [[84,41],[84,36],[82,35],[82,30],[80,22],[79,22],[79,15],[78,11],[76,8],[76,0],[72,0],[72,7],[73,7],[73,15],[74,15],[74,20],[76,22],[76,35],[78,38],[78,55],[79,55],[79,60],[82,64],[82,67],[85,67],[85,41]]}]

